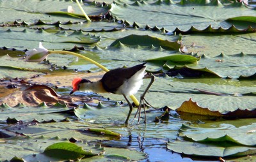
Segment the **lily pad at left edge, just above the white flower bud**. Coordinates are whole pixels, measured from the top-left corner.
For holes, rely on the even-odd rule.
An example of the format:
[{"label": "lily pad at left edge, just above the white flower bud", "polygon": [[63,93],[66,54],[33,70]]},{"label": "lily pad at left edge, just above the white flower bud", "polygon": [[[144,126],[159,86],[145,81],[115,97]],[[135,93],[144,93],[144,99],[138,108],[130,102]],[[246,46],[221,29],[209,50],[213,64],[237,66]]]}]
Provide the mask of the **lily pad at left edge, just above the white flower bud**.
[{"label": "lily pad at left edge, just above the white flower bud", "polygon": [[[32,29],[23,28],[18,30],[1,29],[0,33],[0,40],[4,40],[5,42],[3,44],[4,47],[12,48],[13,39],[16,39],[15,42],[19,43],[19,46],[15,47],[17,50],[36,48],[40,41],[44,41],[43,45],[48,49],[72,48],[74,45],[92,45],[100,41],[99,36],[95,36],[90,33],[83,33],[83,31],[73,31],[71,33],[67,33],[66,31],[48,33],[44,30],[34,31]],[[27,38],[29,38],[29,40]],[[60,48],[60,45],[62,48]]]}]

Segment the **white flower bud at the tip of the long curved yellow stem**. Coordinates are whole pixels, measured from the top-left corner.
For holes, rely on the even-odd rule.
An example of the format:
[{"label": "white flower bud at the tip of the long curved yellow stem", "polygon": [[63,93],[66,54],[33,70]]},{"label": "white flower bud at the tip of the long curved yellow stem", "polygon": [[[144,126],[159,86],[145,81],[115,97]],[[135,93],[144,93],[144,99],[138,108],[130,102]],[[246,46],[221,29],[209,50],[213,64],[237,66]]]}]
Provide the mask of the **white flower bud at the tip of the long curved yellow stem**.
[{"label": "white flower bud at the tip of the long curved yellow stem", "polygon": [[33,50],[28,50],[25,52],[26,60],[29,62],[41,62],[43,61],[47,55],[49,55],[49,51],[43,47],[42,43],[39,42],[39,47],[34,48]]}]

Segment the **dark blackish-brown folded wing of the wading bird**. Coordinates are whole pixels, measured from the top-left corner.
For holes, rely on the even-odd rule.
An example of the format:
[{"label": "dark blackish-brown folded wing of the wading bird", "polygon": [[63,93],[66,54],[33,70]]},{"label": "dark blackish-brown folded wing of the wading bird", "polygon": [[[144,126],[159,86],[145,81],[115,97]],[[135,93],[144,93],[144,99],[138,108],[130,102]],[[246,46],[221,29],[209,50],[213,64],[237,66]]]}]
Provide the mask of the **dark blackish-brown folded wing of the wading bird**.
[{"label": "dark blackish-brown folded wing of the wading bird", "polygon": [[129,79],[136,72],[140,71],[145,67],[146,63],[132,66],[131,68],[118,68],[115,70],[108,71],[101,79],[102,85],[106,91],[115,93],[125,80]]}]

